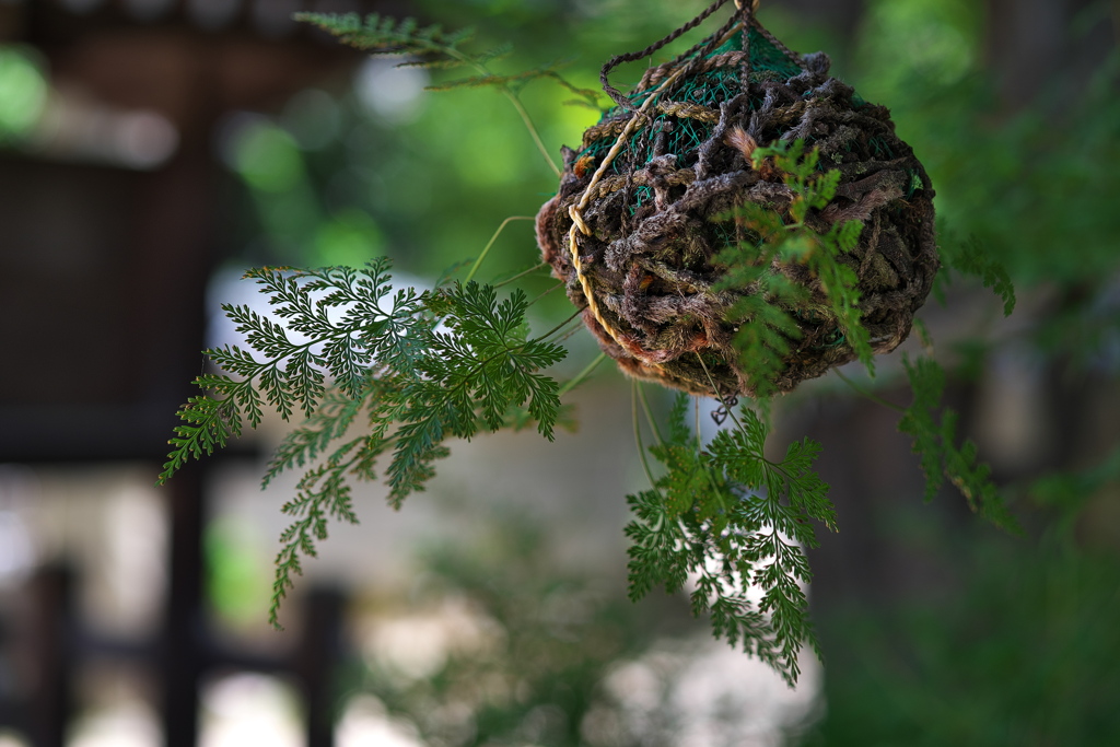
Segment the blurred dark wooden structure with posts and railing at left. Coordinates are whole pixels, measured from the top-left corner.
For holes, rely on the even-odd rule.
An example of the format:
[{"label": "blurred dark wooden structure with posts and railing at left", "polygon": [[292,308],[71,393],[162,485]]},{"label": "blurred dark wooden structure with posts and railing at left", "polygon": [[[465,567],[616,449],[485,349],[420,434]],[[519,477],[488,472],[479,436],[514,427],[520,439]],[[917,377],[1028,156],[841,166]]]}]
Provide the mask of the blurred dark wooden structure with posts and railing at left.
[{"label": "blurred dark wooden structure with posts and railing at left", "polygon": [[[228,252],[217,224],[216,124],[233,111],[276,111],[361,60],[301,28],[295,11],[404,6],[0,2],[0,45],[47,83],[34,131],[0,149],[0,464],[139,463],[155,478],[202,366],[205,286]],[[330,744],[332,703],[317,693],[329,692],[337,595],[319,596],[289,659],[239,663],[222,650],[203,613],[203,469],[162,491],[168,582],[152,637],[90,634],[75,613],[80,579],[65,562],[37,569],[20,595],[26,604],[0,610],[10,664],[0,676],[0,728],[34,747],[60,747],[83,660],[111,655],[148,670],[169,747],[196,744],[199,678],[223,663],[295,674],[308,693],[308,744]]]}]

